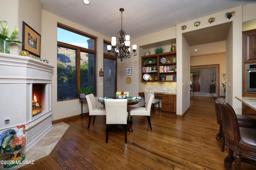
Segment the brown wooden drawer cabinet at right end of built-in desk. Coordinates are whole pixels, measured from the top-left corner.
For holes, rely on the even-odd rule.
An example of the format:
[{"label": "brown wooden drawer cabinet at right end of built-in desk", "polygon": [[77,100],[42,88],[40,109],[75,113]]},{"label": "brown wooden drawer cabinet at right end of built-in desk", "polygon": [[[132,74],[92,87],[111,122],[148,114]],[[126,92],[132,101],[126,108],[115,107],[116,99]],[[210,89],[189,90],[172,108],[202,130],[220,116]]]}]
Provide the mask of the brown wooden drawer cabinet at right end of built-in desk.
[{"label": "brown wooden drawer cabinet at right end of built-in desk", "polygon": [[176,95],[162,94],[162,111],[176,113]]}]

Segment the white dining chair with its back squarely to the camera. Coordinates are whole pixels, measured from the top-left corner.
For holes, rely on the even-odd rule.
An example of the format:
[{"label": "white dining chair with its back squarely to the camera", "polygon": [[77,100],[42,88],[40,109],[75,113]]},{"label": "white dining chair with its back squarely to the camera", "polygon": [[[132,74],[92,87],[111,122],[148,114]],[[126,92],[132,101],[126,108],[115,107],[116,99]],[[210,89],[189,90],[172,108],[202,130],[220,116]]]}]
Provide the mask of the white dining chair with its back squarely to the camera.
[{"label": "white dining chair with its back squarely to the camera", "polygon": [[106,108],[106,143],[108,143],[108,131],[112,125],[124,126],[125,143],[127,143],[127,99],[104,99]]}]

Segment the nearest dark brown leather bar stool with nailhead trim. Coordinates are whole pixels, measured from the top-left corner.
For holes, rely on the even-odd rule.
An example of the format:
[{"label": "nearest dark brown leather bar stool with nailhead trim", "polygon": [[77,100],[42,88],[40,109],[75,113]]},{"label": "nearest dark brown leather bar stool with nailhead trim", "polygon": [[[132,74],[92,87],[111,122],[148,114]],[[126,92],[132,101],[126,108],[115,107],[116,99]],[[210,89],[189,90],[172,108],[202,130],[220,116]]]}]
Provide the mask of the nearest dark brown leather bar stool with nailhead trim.
[{"label": "nearest dark brown leather bar stool with nailhead trim", "polygon": [[[224,159],[224,167],[227,170],[241,169],[241,162],[256,165],[256,130],[240,127],[237,114],[231,105],[222,98],[215,100],[220,106],[223,121],[223,131],[226,136],[226,145],[229,147],[228,156]],[[235,156],[233,156],[235,154]]]}]

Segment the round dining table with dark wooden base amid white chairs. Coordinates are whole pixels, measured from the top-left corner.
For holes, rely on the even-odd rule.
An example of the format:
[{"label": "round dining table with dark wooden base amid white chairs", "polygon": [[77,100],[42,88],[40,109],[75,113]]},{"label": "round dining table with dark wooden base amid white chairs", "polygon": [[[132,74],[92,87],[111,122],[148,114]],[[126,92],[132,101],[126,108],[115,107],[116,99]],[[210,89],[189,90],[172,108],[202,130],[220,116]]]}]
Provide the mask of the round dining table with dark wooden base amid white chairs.
[{"label": "round dining table with dark wooden base amid white chairs", "polygon": [[[104,97],[103,97],[104,98]],[[131,99],[131,98],[135,98],[135,99]],[[116,97],[109,97],[109,99],[116,99]],[[141,97],[126,97],[125,99],[127,99],[127,111],[130,114],[130,107],[131,105],[136,105],[141,101]],[[116,99],[118,100],[118,99]],[[98,102],[100,102],[102,105],[105,105],[104,103],[104,99],[102,99],[102,97],[100,97],[98,99]],[[132,124],[132,122],[129,120],[129,116],[128,116],[128,121],[127,121],[127,128],[129,132],[133,132],[132,127],[130,126]]]}]

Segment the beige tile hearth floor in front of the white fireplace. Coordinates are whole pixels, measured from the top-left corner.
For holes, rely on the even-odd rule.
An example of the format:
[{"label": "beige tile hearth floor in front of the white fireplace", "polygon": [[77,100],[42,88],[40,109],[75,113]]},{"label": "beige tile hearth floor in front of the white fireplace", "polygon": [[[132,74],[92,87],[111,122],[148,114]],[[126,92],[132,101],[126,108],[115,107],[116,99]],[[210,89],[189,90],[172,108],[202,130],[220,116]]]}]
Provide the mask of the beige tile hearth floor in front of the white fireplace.
[{"label": "beige tile hearth floor in front of the white fireplace", "polygon": [[[69,125],[64,122],[57,123],[52,126],[53,126],[52,130],[48,134],[46,134],[46,136],[44,136],[42,140],[40,140],[28,152],[24,153],[26,155],[25,160],[36,161],[40,158],[43,158],[44,156],[49,155],[69,127]],[[15,170],[22,166],[24,166],[24,164],[19,164],[17,166],[12,167],[11,169]],[[0,170],[2,169],[4,168],[1,165]]]}]

